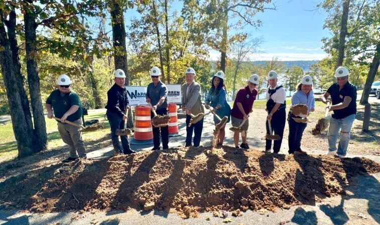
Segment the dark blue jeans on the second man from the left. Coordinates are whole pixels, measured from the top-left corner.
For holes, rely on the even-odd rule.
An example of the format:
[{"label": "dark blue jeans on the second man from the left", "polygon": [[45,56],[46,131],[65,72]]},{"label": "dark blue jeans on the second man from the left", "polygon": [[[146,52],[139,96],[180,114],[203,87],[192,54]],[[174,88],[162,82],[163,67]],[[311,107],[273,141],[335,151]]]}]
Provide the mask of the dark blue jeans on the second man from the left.
[{"label": "dark blue jeans on the second man from the left", "polygon": [[[122,117],[120,115],[114,112],[110,112],[108,110],[106,112],[106,115],[109,121],[109,125],[111,126],[112,145],[115,148],[115,150],[120,151],[119,136],[116,135],[116,129],[124,128],[124,120],[122,120]],[[130,142],[128,141],[128,138],[126,136],[120,136],[120,139],[123,153],[129,153],[131,151],[131,146]]]}]

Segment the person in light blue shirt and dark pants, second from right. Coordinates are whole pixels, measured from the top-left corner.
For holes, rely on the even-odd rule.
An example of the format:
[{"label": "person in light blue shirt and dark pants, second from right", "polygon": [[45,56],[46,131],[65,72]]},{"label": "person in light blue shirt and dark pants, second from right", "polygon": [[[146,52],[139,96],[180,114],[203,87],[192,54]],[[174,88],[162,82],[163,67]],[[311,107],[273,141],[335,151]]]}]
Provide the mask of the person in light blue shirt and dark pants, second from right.
[{"label": "person in light blue shirt and dark pants, second from right", "polygon": [[[301,82],[296,86],[296,92],[292,96],[292,105],[295,104],[304,104],[307,105],[307,110],[309,114],[311,111],[314,111],[315,108],[315,99],[313,92],[313,78],[310,75],[305,75],[302,77]],[[304,115],[306,116],[306,115]],[[301,150],[301,139],[303,132],[306,128],[307,123],[297,122],[293,118],[303,118],[301,115],[294,115],[292,110],[288,114],[288,124],[289,124],[289,154],[294,152],[302,152]],[[305,117],[306,118],[306,117]]]}]

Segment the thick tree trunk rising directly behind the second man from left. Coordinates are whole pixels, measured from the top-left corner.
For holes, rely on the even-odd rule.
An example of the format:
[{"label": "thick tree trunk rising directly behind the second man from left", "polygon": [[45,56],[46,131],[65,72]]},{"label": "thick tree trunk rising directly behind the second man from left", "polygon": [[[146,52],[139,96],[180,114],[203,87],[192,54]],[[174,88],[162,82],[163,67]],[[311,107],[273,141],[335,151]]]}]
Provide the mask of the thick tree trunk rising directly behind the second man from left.
[{"label": "thick tree trunk rising directly behind the second man from left", "polygon": [[125,26],[124,15],[122,14],[118,3],[111,5],[111,20],[112,20],[112,38],[113,38],[113,50],[114,50],[114,63],[115,69],[122,69],[125,72],[125,85],[130,84],[130,78],[128,73],[128,64],[126,62],[126,45],[125,45]]}]

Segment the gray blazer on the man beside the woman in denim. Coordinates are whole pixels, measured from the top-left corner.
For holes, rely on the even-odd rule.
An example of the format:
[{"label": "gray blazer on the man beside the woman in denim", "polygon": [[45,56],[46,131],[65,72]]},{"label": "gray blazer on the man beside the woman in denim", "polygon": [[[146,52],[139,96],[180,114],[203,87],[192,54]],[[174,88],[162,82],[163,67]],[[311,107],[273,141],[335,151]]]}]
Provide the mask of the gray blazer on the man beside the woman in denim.
[{"label": "gray blazer on the man beside the woman in denim", "polygon": [[201,85],[193,81],[189,86],[189,93],[186,94],[187,83],[182,84],[182,106],[190,110],[193,115],[204,113],[204,106],[201,101]]}]

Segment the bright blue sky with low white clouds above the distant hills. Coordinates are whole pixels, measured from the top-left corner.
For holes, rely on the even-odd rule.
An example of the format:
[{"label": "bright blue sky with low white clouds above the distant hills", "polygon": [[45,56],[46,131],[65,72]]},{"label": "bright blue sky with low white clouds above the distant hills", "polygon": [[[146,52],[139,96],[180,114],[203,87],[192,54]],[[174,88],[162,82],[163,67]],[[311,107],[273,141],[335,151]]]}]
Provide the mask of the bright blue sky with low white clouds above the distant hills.
[{"label": "bright blue sky with low white clouds above the distant hills", "polygon": [[[256,19],[263,21],[259,29],[251,26],[244,27],[244,30],[251,33],[252,37],[262,36],[264,39],[259,47],[261,53],[250,54],[250,60],[270,60],[274,56],[283,61],[314,60],[326,57],[327,54],[321,49],[321,38],[330,36],[329,30],[322,28],[327,13],[316,8],[317,1],[278,0],[273,3],[276,5],[276,10],[266,10],[255,16]],[[180,13],[182,2],[175,0],[171,6],[172,10]],[[128,24],[134,16],[139,17],[139,13],[135,9],[129,9],[125,13],[125,23]],[[231,33],[238,31],[231,30]],[[213,60],[219,55],[220,53],[214,50],[211,50],[209,54],[210,59]]]}]

